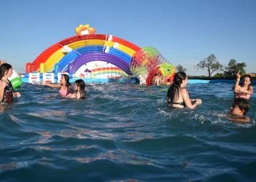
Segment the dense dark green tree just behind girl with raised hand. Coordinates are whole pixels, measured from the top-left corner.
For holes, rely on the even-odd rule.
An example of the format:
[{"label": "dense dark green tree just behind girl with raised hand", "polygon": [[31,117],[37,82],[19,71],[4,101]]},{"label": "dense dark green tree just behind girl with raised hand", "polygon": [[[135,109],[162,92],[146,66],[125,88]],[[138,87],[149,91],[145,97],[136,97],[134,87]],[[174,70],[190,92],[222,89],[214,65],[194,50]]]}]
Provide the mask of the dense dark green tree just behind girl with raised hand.
[{"label": "dense dark green tree just behind girl with raised hand", "polygon": [[225,76],[236,76],[237,72],[240,70],[240,74],[246,74],[244,68],[246,63],[236,63],[236,60],[231,59],[230,62],[225,67],[224,75]]}]

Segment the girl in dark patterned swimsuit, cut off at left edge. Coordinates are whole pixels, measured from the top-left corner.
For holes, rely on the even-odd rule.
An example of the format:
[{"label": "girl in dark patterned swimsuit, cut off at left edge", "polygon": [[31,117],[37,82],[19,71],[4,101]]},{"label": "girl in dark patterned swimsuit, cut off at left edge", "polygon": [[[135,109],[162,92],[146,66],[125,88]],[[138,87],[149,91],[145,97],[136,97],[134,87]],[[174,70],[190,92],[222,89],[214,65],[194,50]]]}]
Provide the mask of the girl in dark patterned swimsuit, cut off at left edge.
[{"label": "girl in dark patterned swimsuit, cut off at left edge", "polygon": [[19,98],[20,92],[13,92],[12,83],[8,78],[12,75],[12,66],[3,63],[0,66],[0,102],[11,103],[13,97]]}]

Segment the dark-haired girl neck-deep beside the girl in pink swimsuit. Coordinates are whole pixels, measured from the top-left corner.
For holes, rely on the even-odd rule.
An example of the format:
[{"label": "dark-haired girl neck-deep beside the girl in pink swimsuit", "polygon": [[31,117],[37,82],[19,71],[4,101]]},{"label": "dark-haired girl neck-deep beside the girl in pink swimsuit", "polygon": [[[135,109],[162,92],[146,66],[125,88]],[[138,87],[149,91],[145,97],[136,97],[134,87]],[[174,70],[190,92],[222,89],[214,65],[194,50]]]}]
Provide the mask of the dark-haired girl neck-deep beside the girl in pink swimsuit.
[{"label": "dark-haired girl neck-deep beside the girl in pink swimsuit", "polygon": [[75,81],[75,92],[69,93],[67,98],[85,99],[86,98],[86,84],[83,79],[78,79]]}]

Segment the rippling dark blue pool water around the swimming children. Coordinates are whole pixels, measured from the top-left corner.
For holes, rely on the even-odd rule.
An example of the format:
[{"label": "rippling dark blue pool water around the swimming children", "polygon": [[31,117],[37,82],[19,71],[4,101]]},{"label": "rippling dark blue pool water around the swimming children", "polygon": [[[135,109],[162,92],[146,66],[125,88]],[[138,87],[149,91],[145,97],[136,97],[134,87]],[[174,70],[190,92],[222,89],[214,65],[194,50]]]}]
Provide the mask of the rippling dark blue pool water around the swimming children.
[{"label": "rippling dark blue pool water around the swimming children", "polygon": [[87,84],[87,100],[23,84],[1,106],[0,181],[255,181],[255,95],[225,118],[232,84],[189,84],[195,110],[171,109],[167,87]]}]

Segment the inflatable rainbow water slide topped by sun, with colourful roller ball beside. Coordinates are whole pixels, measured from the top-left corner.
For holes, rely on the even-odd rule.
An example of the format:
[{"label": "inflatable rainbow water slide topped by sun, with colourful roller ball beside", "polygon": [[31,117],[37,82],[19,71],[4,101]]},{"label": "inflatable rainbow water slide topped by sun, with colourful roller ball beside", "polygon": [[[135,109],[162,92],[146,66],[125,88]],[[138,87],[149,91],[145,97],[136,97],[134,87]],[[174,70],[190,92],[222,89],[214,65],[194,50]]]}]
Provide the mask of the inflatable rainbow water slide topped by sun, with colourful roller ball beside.
[{"label": "inflatable rainbow water slide topped by sun, with colourful roller ball beside", "polygon": [[[97,34],[89,24],[75,28],[76,35],[44,50],[32,63],[26,63],[22,82],[59,82],[68,74],[70,82],[132,82],[161,84],[173,81],[176,68],[154,47],[139,47],[113,35]],[[17,79],[16,77],[15,79]],[[20,82],[19,82],[20,84]]]}]

